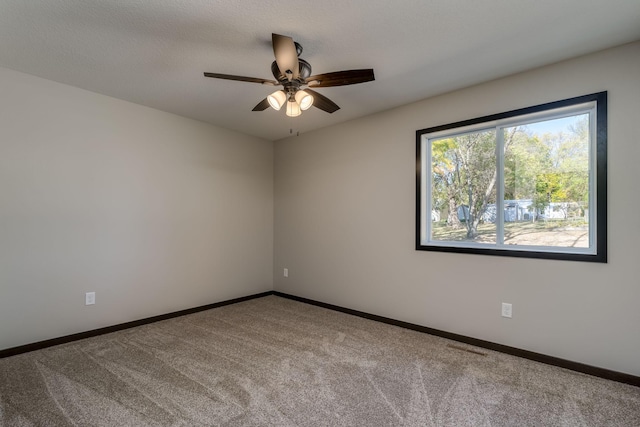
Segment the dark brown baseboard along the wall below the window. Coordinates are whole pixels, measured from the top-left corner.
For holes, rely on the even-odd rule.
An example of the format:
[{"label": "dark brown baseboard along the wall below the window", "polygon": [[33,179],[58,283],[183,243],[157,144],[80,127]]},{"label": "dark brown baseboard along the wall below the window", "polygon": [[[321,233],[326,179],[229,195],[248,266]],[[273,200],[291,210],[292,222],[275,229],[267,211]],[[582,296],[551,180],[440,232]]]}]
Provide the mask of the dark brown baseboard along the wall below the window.
[{"label": "dark brown baseboard along the wall below the window", "polygon": [[311,299],[298,297],[295,295],[286,294],[279,291],[273,291],[273,295],[277,295],[282,298],[288,298],[294,301],[303,302],[306,304],[315,305],[318,307],[328,308],[330,310],[340,311],[342,313],[351,314],[358,317],[363,317],[369,320],[375,320],[377,322],[387,323],[389,325],[400,326],[402,328],[411,329],[418,332],[424,332],[426,334],[435,335],[442,338],[447,338],[453,341],[462,342],[465,344],[474,345],[476,347],[486,348],[488,350],[499,351],[501,353],[510,354],[512,356],[522,357],[524,359],[533,360],[536,362],[546,363],[547,365],[558,366],[572,371],[581,372],[583,374],[592,375],[607,380],[617,381],[636,387],[640,387],[640,377],[622,372],[612,371],[609,369],[598,368],[591,365],[585,365],[579,362],[573,362],[571,360],[561,359],[558,357],[548,356],[546,354],[535,353],[532,351],[522,350],[515,347],[509,347],[502,344],[496,344],[490,341],[485,341],[477,338],[471,338],[464,335],[458,335],[451,332],[441,331],[438,329],[428,328],[426,326],[420,326],[413,323],[402,322],[400,320],[390,319],[388,317],[378,316],[375,314],[365,313],[363,311],[352,310],[350,308],[340,307],[333,304],[327,304],[324,302],[314,301]]}]

